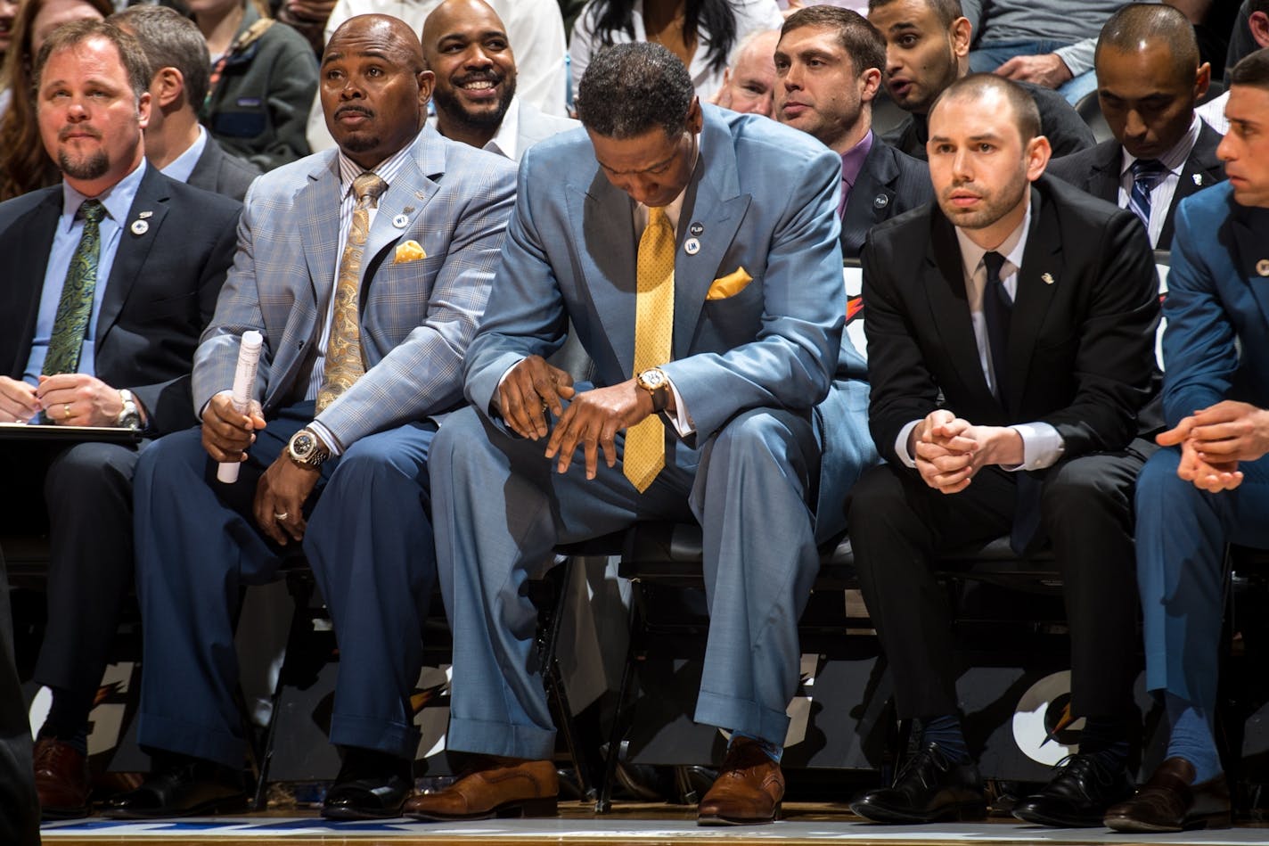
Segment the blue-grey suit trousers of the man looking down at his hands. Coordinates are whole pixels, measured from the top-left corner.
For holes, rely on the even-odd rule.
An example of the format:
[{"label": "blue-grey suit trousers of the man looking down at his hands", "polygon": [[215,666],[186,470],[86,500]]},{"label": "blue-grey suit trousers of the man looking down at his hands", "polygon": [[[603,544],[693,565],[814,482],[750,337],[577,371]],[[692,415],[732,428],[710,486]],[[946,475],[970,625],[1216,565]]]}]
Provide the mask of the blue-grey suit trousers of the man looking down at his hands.
[{"label": "blue-grey suit trousers of the man looking down at his hands", "polygon": [[586,480],[580,450],[561,475],[544,447],[471,408],[437,436],[431,473],[448,494],[435,502],[438,575],[454,634],[449,748],[551,757],[555,725],[525,581],[556,544],[692,517],[703,528],[709,608],[695,719],[783,743],[798,683],[797,620],[819,569],[807,502],[820,451],[810,415],[742,412],[693,452],[697,466],[671,460],[642,494],[621,461],[608,467],[600,456]]}]

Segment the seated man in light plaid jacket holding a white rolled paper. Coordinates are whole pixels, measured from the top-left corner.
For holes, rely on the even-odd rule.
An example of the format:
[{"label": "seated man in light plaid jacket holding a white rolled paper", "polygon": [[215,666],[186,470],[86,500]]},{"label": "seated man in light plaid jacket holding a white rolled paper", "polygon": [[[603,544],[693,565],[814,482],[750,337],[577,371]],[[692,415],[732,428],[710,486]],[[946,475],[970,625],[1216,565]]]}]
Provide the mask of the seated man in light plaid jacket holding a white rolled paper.
[{"label": "seated man in light plaid jacket holding a white rolled paper", "polygon": [[[412,788],[409,700],[435,572],[428,452],[463,401],[514,166],[419,131],[431,72],[396,18],[348,20],[321,79],[339,150],[253,184],[194,358],[203,426],[156,442],[137,471],[140,739],[161,755],[113,816],[241,802],[232,611],[297,542],[341,658],[330,738],[345,755],[324,814],[395,817]],[[244,412],[228,389],[247,330],[264,349]],[[212,480],[213,462],[239,461],[236,483]]]}]

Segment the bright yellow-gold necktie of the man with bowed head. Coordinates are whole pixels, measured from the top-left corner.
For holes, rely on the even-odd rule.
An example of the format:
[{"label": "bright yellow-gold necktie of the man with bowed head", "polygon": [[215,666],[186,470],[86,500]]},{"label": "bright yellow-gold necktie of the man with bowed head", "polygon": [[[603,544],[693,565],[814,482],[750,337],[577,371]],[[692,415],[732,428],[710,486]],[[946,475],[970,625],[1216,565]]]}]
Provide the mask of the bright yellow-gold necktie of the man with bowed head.
[{"label": "bright yellow-gold necktie of the man with bowed head", "polygon": [[[647,210],[638,241],[634,299],[634,372],[670,361],[674,342],[674,229],[665,210]],[[643,493],[665,466],[665,424],[651,414],[626,429],[622,471]]]}]

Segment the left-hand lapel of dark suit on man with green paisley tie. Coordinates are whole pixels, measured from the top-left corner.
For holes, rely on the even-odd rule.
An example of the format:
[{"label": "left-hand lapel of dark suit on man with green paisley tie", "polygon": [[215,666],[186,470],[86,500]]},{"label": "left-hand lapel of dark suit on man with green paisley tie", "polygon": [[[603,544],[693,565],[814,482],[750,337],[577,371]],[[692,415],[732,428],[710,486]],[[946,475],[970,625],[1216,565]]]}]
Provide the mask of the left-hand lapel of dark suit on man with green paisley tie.
[{"label": "left-hand lapel of dark suit on man with green paisley tie", "polygon": [[13,326],[15,332],[8,338],[0,338],[0,349],[5,351],[0,372],[11,379],[22,379],[30,357],[48,253],[53,248],[53,234],[61,213],[62,188],[55,185],[47,189],[47,196],[34,211],[14,227],[13,236],[5,244],[10,248],[6,250],[8,255],[13,257],[13,274],[5,273],[5,283],[0,285],[0,324]]}]

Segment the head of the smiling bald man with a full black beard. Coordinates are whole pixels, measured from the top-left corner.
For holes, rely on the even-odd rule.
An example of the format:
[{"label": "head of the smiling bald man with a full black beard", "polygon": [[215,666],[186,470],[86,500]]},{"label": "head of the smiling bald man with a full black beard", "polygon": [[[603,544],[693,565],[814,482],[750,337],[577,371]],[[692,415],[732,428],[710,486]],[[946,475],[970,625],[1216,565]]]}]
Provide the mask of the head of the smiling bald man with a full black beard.
[{"label": "head of the smiling bald man with a full black beard", "polygon": [[485,0],[445,0],[423,23],[423,57],[437,76],[440,133],[485,146],[515,97],[515,55]]}]

